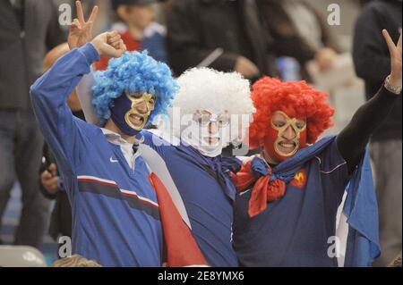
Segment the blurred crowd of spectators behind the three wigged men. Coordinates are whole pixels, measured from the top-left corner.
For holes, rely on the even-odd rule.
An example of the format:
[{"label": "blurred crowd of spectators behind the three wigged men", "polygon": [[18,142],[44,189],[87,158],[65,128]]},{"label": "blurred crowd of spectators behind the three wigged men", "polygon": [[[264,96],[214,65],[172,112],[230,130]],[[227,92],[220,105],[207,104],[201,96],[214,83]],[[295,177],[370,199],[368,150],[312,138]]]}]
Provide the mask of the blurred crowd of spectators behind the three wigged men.
[{"label": "blurred crowd of spectators behind the three wigged men", "polygon": [[[340,44],[322,5],[304,0],[88,0],[89,15],[99,6],[93,35],[117,30],[129,51],[147,50],[176,76],[192,67],[238,71],[252,82],[264,75],[306,80],[330,93],[365,83],[371,99],[390,74],[382,29],[401,32],[401,0],[356,1],[352,50]],[[56,162],[40,134],[29,88],[57,58],[69,51],[67,26],[59,24],[61,4],[74,1],[0,2],[0,221],[16,181],[22,211],[15,245],[39,247],[46,233],[71,236],[71,210]],[[343,7],[341,7],[343,11]],[[74,12],[73,12],[74,13]],[[73,15],[73,19],[76,16]],[[101,58],[95,70],[105,70]],[[347,103],[348,104],[348,103]],[[76,95],[72,112],[81,118]],[[384,266],[401,252],[401,97],[373,136],[374,177],[380,207]],[[50,209],[50,200],[56,205]],[[52,212],[52,213],[51,213]],[[50,227],[49,227],[49,217]],[[1,226],[1,222],[0,222]],[[1,240],[0,240],[1,245]]]}]

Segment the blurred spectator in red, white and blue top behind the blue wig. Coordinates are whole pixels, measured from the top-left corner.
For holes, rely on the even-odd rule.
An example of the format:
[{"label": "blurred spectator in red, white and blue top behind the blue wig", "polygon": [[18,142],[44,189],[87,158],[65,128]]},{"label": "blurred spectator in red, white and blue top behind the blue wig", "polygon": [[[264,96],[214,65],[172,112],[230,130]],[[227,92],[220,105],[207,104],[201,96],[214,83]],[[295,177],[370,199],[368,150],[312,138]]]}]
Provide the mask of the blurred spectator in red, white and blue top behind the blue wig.
[{"label": "blurred spectator in red, white and blue top behind the blue wig", "polygon": [[[112,7],[120,22],[115,25],[128,51],[147,50],[160,62],[167,62],[166,29],[154,21],[158,0],[113,0]],[[95,68],[107,69],[108,58],[103,56]]]}]

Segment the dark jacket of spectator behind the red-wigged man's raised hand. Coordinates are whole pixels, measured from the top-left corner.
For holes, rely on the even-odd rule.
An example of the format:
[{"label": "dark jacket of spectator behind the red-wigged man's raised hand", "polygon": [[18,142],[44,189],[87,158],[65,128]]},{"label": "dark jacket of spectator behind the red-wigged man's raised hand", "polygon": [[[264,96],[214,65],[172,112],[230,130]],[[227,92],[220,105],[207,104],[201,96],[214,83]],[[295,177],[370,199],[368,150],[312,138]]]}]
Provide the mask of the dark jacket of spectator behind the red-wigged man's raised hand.
[{"label": "dark jacket of spectator behind the red-wigged man's raised hand", "polygon": [[[376,94],[390,74],[390,53],[382,36],[388,29],[390,37],[399,39],[402,22],[401,0],[373,1],[364,7],[356,22],[354,38],[354,63],[357,75],[365,80],[367,99]],[[402,98],[399,96],[382,127],[373,134],[373,141],[401,139]]]}]

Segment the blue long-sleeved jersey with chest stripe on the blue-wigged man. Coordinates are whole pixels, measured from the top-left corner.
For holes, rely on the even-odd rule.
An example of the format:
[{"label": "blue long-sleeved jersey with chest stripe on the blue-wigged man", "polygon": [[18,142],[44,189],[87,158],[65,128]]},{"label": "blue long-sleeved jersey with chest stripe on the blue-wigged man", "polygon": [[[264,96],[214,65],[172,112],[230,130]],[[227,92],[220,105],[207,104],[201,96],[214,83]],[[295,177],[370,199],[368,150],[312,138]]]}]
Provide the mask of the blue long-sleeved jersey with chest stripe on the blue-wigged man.
[{"label": "blue long-sleeved jersey with chest stripe on the blue-wigged man", "polygon": [[73,254],[104,266],[160,266],[159,204],[146,163],[137,155],[130,167],[119,146],[98,127],[73,117],[65,104],[97,60],[90,44],[74,49],[31,87],[73,208]]}]

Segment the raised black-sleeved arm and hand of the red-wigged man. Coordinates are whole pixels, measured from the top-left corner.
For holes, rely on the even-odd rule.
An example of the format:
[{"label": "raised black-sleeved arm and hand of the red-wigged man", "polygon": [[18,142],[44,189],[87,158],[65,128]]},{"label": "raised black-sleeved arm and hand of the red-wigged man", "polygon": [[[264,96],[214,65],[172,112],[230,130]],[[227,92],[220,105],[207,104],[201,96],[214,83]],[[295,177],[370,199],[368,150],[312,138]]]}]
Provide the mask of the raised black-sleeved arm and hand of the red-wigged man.
[{"label": "raised black-sleeved arm and hand of the red-wigged man", "polygon": [[[347,127],[341,131],[337,139],[339,152],[347,162],[351,173],[360,162],[373,132],[380,127],[383,120],[392,109],[396,99],[401,96],[402,86],[402,39],[401,35],[397,46],[393,43],[388,32],[383,30],[390,50],[391,73],[381,90],[371,100],[362,105]],[[388,85],[388,87],[386,87]],[[400,94],[390,90],[400,88]]]}]

